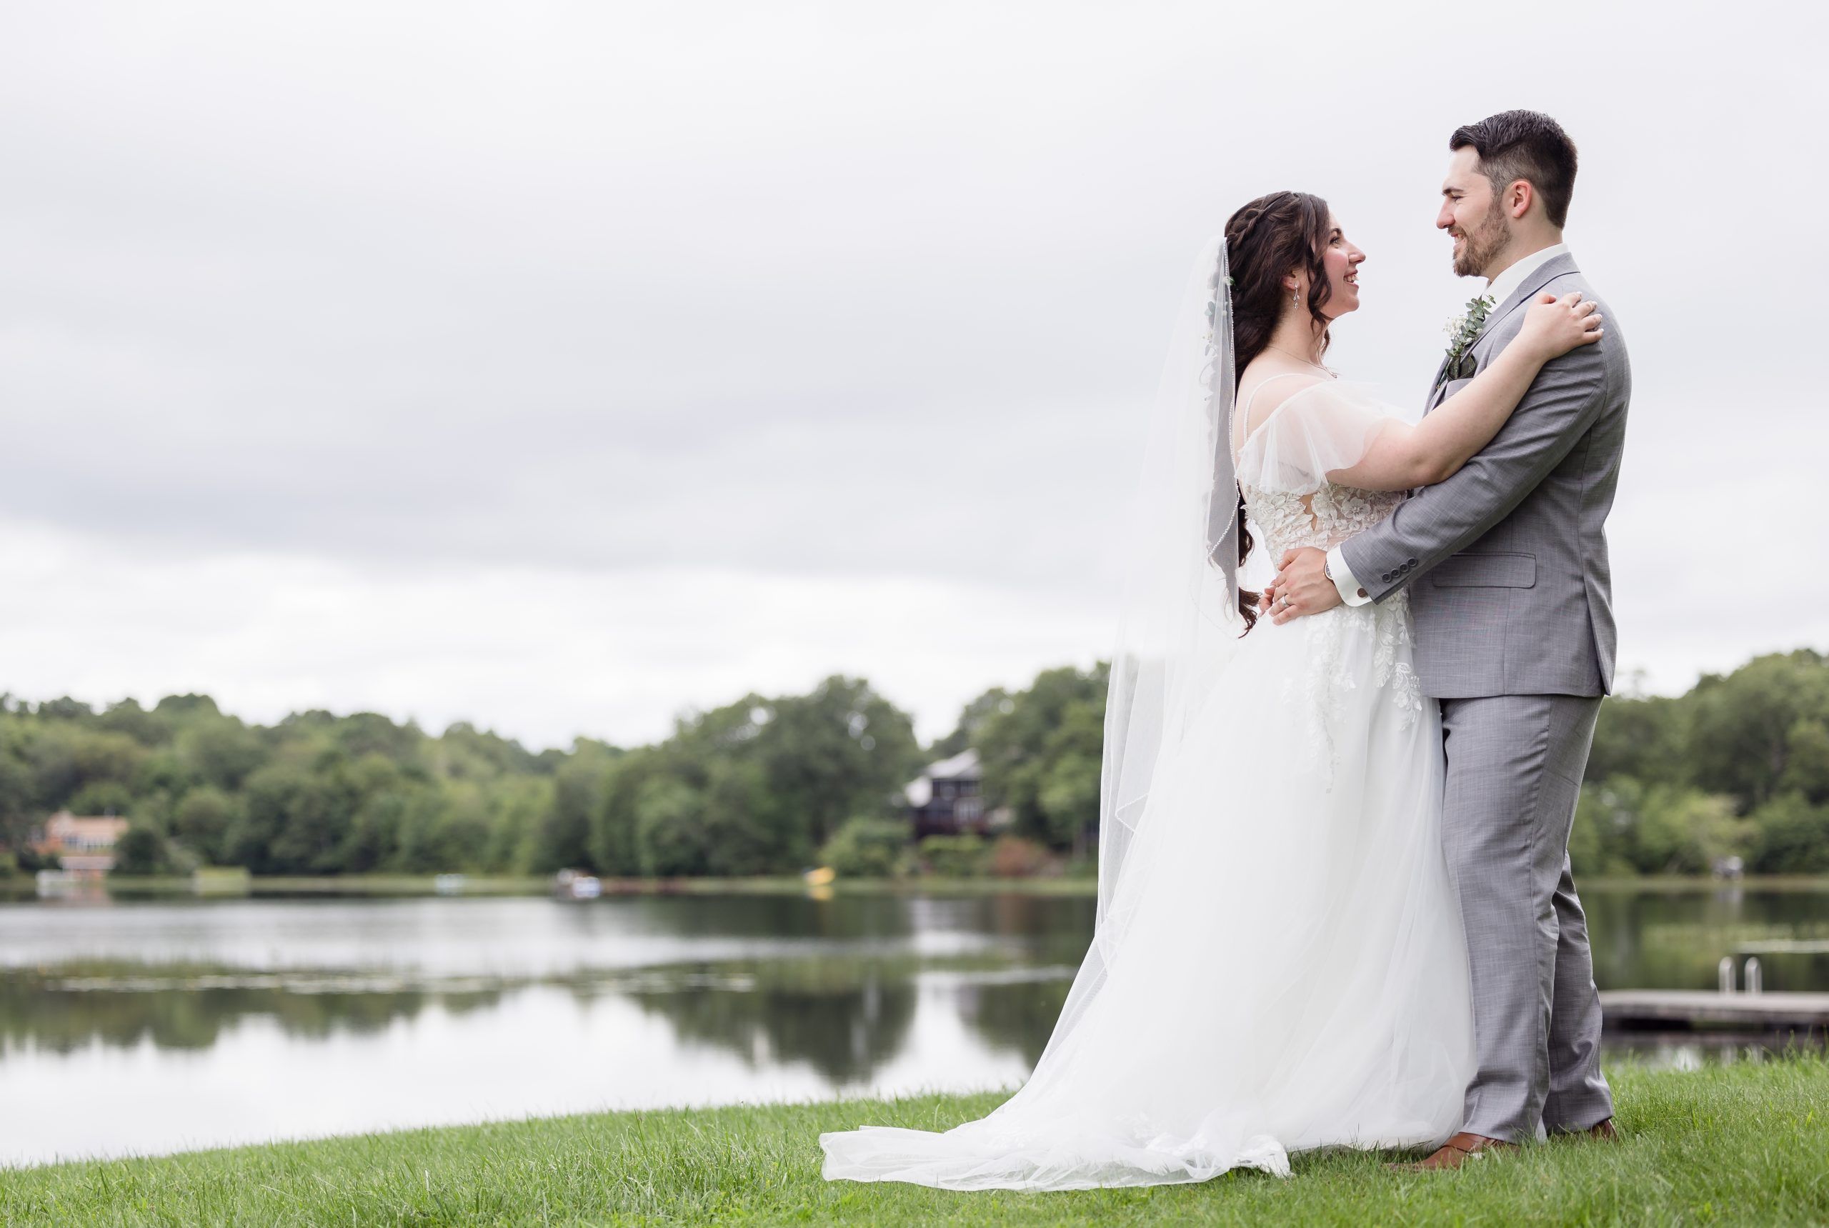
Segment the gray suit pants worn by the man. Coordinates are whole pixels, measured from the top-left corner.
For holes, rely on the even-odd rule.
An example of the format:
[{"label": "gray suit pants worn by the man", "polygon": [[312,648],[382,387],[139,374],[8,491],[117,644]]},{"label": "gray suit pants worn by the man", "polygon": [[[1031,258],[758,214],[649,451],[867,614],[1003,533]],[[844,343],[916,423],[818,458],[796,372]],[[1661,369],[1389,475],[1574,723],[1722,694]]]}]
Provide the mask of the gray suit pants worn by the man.
[{"label": "gray suit pants worn by the man", "polygon": [[1441,838],[1467,928],[1478,1071],[1461,1129],[1522,1142],[1613,1115],[1569,827],[1600,699],[1441,699]]}]

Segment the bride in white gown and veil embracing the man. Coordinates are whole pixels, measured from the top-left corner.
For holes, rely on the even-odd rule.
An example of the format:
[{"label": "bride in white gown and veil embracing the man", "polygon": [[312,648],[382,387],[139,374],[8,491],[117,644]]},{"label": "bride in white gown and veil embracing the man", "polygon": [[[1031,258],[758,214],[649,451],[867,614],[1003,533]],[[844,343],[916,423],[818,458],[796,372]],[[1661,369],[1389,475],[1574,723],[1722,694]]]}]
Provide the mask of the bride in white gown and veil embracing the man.
[{"label": "bride in white gown and veil embracing the man", "polygon": [[1412,425],[1321,364],[1363,260],[1304,192],[1251,201],[1202,253],[1125,538],[1092,946],[1010,1100],[944,1133],[821,1133],[827,1179],[1288,1175],[1293,1151],[1434,1146],[1460,1127],[1467,953],[1407,598],[1258,622],[1236,580],[1246,520],[1273,558],[1375,523],[1485,447],[1600,317],[1578,295],[1540,296],[1518,339]]}]

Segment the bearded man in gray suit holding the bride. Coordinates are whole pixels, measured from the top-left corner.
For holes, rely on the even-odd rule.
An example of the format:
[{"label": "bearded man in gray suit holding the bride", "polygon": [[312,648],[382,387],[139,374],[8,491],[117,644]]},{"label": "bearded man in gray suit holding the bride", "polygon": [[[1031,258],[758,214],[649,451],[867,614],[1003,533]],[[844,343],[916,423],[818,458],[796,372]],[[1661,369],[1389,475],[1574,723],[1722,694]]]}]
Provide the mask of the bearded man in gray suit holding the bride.
[{"label": "bearded man in gray suit holding the bride", "polygon": [[[1575,145],[1536,112],[1502,112],[1450,139],[1436,225],[1454,271],[1487,278],[1481,311],[1436,373],[1428,408],[1487,366],[1542,293],[1599,302],[1562,242]],[[1631,370],[1619,317],[1553,359],[1511,421],[1447,481],[1322,555],[1284,555],[1275,622],[1410,593],[1423,694],[1441,701],[1441,835],[1472,974],[1478,1071],[1460,1135],[1421,1162],[1547,1133],[1613,1136],[1600,1001],[1569,877],[1569,825],[1600,697],[1613,683],[1602,523],[1613,505]]]}]

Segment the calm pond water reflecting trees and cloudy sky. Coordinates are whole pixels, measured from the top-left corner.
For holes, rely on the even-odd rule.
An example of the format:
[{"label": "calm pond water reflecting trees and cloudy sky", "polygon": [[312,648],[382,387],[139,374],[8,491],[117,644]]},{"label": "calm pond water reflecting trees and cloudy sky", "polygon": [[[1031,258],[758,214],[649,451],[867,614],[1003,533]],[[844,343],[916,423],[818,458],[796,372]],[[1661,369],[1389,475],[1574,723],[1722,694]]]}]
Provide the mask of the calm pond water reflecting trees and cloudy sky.
[{"label": "calm pond water reflecting trees and cloudy sky", "polygon": [[[1829,889],[1588,889],[1602,988],[1829,990]],[[613,1107],[1015,1087],[1090,897],[0,904],[0,1166]],[[1610,1034],[1655,1061],[1758,1041]]]}]

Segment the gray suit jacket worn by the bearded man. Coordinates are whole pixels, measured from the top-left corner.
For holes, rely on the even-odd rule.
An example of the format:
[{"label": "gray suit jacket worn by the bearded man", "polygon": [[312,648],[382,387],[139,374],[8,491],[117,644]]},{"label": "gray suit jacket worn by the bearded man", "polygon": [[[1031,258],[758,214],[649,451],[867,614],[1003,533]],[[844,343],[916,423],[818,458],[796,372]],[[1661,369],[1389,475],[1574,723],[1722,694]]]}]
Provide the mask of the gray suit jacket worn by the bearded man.
[{"label": "gray suit jacket worn by the bearded man", "polygon": [[[1567,253],[1492,307],[1480,337],[1438,373],[1428,408],[1454,395],[1524,326],[1542,291],[1593,287]],[[1341,545],[1374,600],[1410,587],[1423,694],[1602,695],[1613,684],[1613,586],[1602,523],[1613,507],[1631,366],[1613,313],[1606,335],[1551,359],[1498,436],[1443,483]],[[1449,379],[1443,381],[1443,375]]]}]

